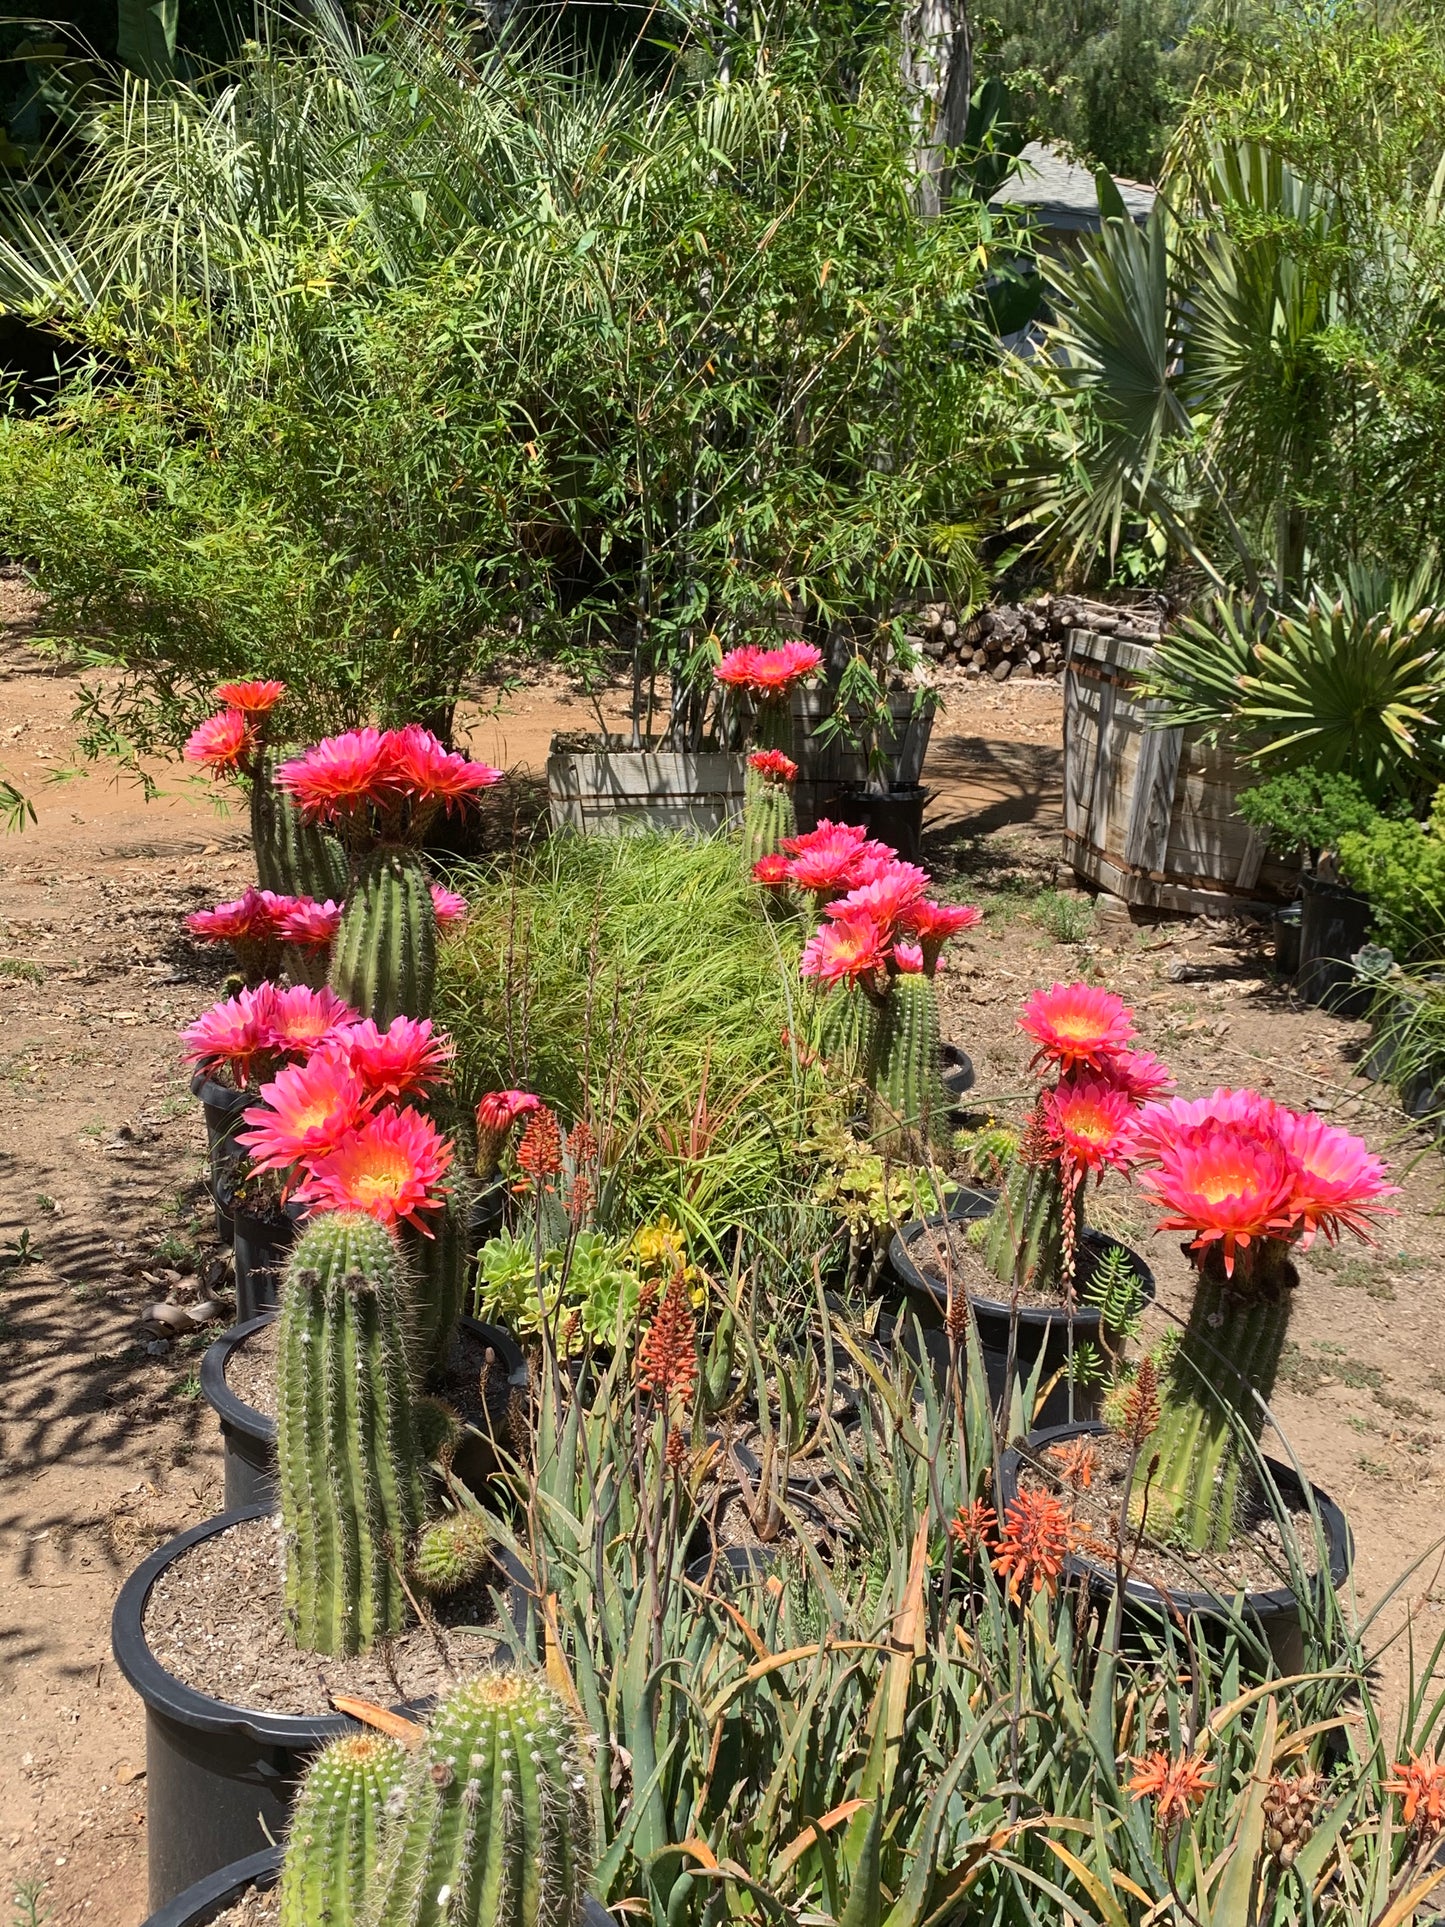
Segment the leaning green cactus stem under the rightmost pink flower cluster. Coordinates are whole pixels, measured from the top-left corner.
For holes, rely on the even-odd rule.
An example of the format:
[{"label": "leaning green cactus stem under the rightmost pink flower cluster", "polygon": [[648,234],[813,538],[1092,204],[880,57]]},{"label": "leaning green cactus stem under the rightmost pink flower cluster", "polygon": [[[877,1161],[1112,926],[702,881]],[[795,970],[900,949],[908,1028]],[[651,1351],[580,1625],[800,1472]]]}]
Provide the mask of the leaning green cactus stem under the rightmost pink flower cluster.
[{"label": "leaning green cactus stem under the rightmost pink flower cluster", "polygon": [[1258,1443],[1264,1432],[1258,1401],[1274,1393],[1295,1295],[1285,1253],[1277,1239],[1266,1239],[1248,1276],[1252,1254],[1239,1253],[1231,1280],[1210,1253],[1164,1382],[1164,1411],[1148,1443],[1160,1455],[1148,1482],[1148,1530],[1195,1551],[1229,1545],[1241,1491],[1248,1490],[1248,1439]]}]

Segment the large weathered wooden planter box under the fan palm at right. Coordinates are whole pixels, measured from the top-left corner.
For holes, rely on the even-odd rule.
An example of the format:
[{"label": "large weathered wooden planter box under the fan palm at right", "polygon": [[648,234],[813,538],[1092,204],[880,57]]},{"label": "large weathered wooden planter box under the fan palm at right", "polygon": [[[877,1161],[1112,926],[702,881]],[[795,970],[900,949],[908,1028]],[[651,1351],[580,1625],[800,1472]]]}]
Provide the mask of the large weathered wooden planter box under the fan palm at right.
[{"label": "large weathered wooden planter box under the fan palm at right", "polygon": [[1295,873],[1268,861],[1237,798],[1254,771],[1196,728],[1162,728],[1139,694],[1152,651],[1075,628],[1064,665],[1064,856],[1127,904],[1189,915],[1275,900]]}]

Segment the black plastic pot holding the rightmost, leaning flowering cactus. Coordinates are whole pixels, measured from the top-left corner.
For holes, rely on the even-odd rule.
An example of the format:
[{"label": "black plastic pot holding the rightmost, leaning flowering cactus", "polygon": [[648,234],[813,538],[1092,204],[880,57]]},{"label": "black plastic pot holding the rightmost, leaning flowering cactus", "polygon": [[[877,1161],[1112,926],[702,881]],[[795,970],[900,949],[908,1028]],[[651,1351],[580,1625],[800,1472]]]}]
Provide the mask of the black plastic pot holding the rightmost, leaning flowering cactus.
[{"label": "black plastic pot holding the rightmost, leaning flowering cactus", "polygon": [[[1023,1451],[1010,1447],[998,1468],[1000,1513],[1008,1507],[1010,1499],[1017,1497],[1019,1470],[1023,1466],[1025,1453],[1037,1459],[1038,1453],[1046,1451],[1050,1445],[1058,1445],[1071,1438],[1087,1438],[1098,1432],[1108,1432],[1108,1426],[1044,1426],[1029,1434]],[[1302,1503],[1304,1482],[1299,1472],[1295,1472],[1289,1465],[1281,1465],[1277,1459],[1266,1457],[1264,1463],[1285,1503]],[[1349,1569],[1354,1563],[1354,1540],[1351,1538],[1351,1528],[1327,1491],[1320,1491],[1314,1484],[1310,1484],[1308,1490],[1320,1515],[1320,1526],[1324,1528],[1326,1551],[1329,1555],[1329,1578],[1335,1586],[1343,1586],[1349,1576]],[[1114,1571],[1092,1559],[1081,1559],[1071,1553],[1065,1559],[1065,1574],[1085,1576],[1089,1592],[1098,1605],[1108,1605],[1114,1597]],[[1314,1584],[1320,1586],[1322,1582],[1316,1580]],[[1146,1586],[1143,1580],[1125,1580],[1123,1634],[1131,1640],[1131,1644],[1139,1646],[1148,1642],[1156,1646],[1162,1638],[1166,1615],[1173,1619],[1175,1613],[1196,1621],[1204,1628],[1204,1638],[1214,1650],[1222,1650],[1229,1638],[1233,1615],[1245,1619],[1268,1644],[1281,1673],[1299,1673],[1304,1663],[1300,1601],[1289,1586],[1274,1586],[1268,1592],[1247,1592],[1239,1603],[1222,1599],[1216,1592],[1173,1592],[1168,1596],[1166,1605],[1164,1594],[1158,1586]]]}]

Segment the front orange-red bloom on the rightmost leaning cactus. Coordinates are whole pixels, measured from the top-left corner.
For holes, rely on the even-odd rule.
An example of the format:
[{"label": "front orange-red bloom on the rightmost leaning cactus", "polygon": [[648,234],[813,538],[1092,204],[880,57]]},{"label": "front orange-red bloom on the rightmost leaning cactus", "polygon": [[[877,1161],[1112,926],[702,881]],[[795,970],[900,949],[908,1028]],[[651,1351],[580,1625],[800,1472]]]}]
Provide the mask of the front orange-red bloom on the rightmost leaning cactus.
[{"label": "front orange-red bloom on the rightmost leaning cactus", "polygon": [[1237,1251],[1285,1237],[1293,1226],[1295,1168],[1283,1147],[1241,1123],[1202,1123],[1154,1137],[1160,1168],[1139,1183],[1164,1206],[1160,1231],[1195,1231],[1200,1254],[1218,1243],[1225,1276]]}]

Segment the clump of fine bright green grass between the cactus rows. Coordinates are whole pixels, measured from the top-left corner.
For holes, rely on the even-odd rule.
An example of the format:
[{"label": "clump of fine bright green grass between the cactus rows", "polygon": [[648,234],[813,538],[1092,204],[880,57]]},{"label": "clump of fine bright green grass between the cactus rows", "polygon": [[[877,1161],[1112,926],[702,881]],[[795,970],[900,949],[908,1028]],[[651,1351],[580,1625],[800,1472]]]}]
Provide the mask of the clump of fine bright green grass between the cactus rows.
[{"label": "clump of fine bright green grass between the cactus rows", "polygon": [[796,944],[728,838],[557,836],[466,894],[437,981],[460,1089],[586,1118],[603,1229],[670,1218],[721,1249],[771,1222],[786,1241],[790,1206],[813,1227],[798,1143],[821,1089],[784,1044]]}]

